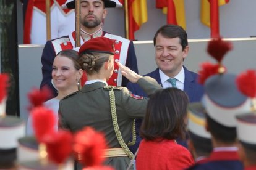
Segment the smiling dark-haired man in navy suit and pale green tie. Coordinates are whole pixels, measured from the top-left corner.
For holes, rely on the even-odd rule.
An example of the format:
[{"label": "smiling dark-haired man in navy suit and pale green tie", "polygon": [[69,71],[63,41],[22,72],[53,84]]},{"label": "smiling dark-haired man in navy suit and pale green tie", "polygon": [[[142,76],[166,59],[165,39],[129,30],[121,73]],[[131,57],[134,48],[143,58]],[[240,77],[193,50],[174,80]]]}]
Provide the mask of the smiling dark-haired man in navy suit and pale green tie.
[{"label": "smiling dark-haired man in navy suit and pale green tie", "polygon": [[[197,83],[198,75],[183,66],[184,59],[189,52],[186,31],[179,25],[164,25],[156,31],[154,46],[158,68],[145,76],[155,78],[163,88],[177,87],[185,91],[190,102],[200,102],[203,95],[203,86]],[[127,88],[133,94],[147,96],[137,84],[128,83]],[[132,152],[137,150],[141,140],[139,137],[141,122],[141,119],[136,120],[138,141],[137,144],[130,147]],[[181,141],[180,144],[187,147],[185,141]]]}]

